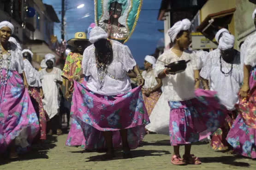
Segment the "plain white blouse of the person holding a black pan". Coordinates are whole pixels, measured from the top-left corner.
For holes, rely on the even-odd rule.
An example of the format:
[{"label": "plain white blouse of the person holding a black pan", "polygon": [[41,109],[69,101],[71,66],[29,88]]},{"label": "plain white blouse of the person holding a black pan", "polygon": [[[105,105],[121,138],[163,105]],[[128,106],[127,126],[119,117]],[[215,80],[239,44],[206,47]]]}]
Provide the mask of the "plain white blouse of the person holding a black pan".
[{"label": "plain white blouse of the person holding a black pan", "polygon": [[[184,101],[195,97],[194,94],[194,70],[202,68],[201,58],[192,51],[184,51],[181,57],[178,57],[171,49],[165,51],[158,60],[163,62],[172,63],[179,60],[191,60],[187,63],[187,68],[184,72],[175,75],[167,75],[163,81],[164,91],[166,92],[166,99],[168,101]],[[155,72],[161,73],[165,69],[165,63],[157,61]]]}]

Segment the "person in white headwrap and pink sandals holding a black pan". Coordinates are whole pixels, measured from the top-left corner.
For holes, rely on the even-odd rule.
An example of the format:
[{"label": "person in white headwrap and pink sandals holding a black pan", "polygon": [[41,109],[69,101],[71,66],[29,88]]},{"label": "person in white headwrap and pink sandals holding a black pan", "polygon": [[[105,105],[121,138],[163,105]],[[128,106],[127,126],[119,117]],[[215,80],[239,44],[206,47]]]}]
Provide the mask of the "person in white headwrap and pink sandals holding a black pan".
[{"label": "person in white headwrap and pink sandals holding a black pan", "polygon": [[[155,68],[158,78],[163,81],[164,93],[167,94],[165,97],[170,106],[169,134],[171,146],[174,148],[171,163],[175,165],[201,164],[200,160],[191,154],[191,143],[214,132],[222,124],[222,117],[226,115],[217,114],[223,110],[219,101],[214,100],[215,92],[198,89],[202,61],[195,52],[185,50],[190,44],[190,27],[191,22],[184,19],[168,30],[174,43],[173,48],[158,58]],[[172,68],[165,67],[166,63],[180,60],[190,60],[185,71],[181,73],[172,73]],[[180,145],[185,145],[183,158],[179,154]]]}]

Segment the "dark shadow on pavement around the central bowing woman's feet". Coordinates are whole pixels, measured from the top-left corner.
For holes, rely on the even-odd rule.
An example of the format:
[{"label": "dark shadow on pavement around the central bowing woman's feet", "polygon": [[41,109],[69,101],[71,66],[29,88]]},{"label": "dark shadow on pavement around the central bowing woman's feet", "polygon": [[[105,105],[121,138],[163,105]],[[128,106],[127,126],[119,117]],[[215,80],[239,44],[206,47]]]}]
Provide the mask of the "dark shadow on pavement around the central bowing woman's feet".
[{"label": "dark shadow on pavement around the central bowing woman's feet", "polygon": [[[158,150],[131,150],[132,158],[145,157],[145,156],[161,156],[171,154],[169,151],[158,151]],[[115,153],[115,157],[113,159],[105,159],[105,154],[92,156],[86,159],[89,159],[86,162],[94,162],[94,161],[110,161],[123,159],[123,152]]]}]

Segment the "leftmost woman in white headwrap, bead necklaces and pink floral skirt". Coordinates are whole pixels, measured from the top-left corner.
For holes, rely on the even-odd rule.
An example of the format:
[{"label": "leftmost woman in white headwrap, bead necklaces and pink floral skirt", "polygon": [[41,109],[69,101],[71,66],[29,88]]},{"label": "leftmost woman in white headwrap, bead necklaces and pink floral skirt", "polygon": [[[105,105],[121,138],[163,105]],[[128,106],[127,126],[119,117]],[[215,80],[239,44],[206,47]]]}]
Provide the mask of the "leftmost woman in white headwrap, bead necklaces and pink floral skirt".
[{"label": "leftmost woman in white headwrap, bead necklaces and pink floral skirt", "polygon": [[0,154],[11,147],[26,149],[39,132],[39,123],[28,93],[24,63],[20,49],[9,38],[14,32],[11,23],[0,23]]}]

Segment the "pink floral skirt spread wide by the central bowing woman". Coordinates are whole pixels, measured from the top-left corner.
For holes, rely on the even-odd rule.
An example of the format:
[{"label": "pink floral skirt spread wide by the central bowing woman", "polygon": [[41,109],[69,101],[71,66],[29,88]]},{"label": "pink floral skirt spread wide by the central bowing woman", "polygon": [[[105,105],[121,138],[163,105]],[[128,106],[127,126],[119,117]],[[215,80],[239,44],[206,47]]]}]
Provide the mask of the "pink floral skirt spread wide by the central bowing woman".
[{"label": "pink floral skirt spread wide by the central bowing woman", "polygon": [[[145,135],[145,126],[149,124],[141,86],[116,96],[96,94],[77,82],[74,82],[74,87],[71,117],[83,130],[83,148],[106,148],[104,131],[112,131],[113,147],[121,148],[121,129],[128,130],[130,148],[138,147]],[[71,142],[72,137],[68,137],[66,145],[69,146]]]}]

